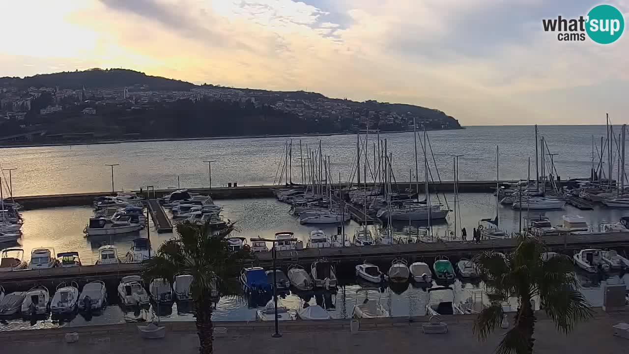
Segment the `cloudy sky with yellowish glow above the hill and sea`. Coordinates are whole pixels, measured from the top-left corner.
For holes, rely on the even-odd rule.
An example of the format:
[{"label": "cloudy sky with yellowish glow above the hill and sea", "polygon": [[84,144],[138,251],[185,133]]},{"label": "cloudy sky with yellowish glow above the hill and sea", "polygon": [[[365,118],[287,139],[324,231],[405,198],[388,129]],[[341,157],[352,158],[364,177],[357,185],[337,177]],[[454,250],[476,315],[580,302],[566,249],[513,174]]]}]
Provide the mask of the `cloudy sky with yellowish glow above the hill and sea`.
[{"label": "cloudy sky with yellowish glow above the hill and sea", "polygon": [[[410,103],[462,125],[629,123],[629,30],[559,42],[586,0],[0,0],[0,76],[122,67]],[[629,19],[629,0],[610,0]],[[629,26],[629,24],[627,25]]]}]

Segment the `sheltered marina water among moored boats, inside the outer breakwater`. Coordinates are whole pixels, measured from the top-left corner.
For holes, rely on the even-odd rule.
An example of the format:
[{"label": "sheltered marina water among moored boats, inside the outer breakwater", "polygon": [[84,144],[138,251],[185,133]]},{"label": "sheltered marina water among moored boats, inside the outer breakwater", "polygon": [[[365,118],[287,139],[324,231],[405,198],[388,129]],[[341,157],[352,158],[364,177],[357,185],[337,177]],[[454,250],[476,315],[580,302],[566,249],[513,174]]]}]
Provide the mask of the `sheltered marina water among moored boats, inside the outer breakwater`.
[{"label": "sheltered marina water among moored boats, inside the outer breakwater", "polygon": [[[470,230],[477,225],[479,219],[491,217],[495,212],[495,197],[485,193],[470,193],[460,195],[461,212],[460,223]],[[452,202],[452,196],[447,195],[448,200]],[[437,202],[435,198],[435,202]],[[244,237],[272,237],[278,231],[293,231],[296,237],[306,241],[310,231],[315,229],[312,226],[303,226],[299,221],[288,214],[289,206],[277,202],[272,198],[268,199],[252,199],[252,200],[220,200],[220,205],[224,207],[223,215],[231,220],[238,220],[237,225],[240,227],[240,234]],[[523,213],[525,214],[525,213]],[[546,212],[554,224],[559,224],[562,215],[580,214],[590,220],[591,225],[595,226],[601,220],[618,220],[622,215],[629,215],[629,211],[611,210],[605,208],[595,208],[594,210],[582,211],[567,206],[565,210],[556,210]],[[92,209],[89,207],[65,207],[65,208],[48,208],[42,210],[29,210],[23,213],[26,219],[23,231],[24,236],[19,244],[28,252],[31,249],[48,246],[54,247],[55,251],[78,251],[84,263],[93,263],[97,257],[97,248],[104,243],[113,243],[118,246],[119,253],[123,256],[131,246],[131,239],[135,237],[145,237],[147,231],[136,234],[128,234],[125,236],[104,237],[103,239],[86,239],[82,234],[82,230],[87,219],[92,215]],[[535,214],[537,215],[537,214]],[[501,225],[506,230],[518,229],[518,212],[508,207],[499,208],[499,216]],[[458,219],[458,218],[457,218]],[[349,222],[346,225],[348,235],[353,234],[353,229],[358,225]],[[396,224],[398,232],[402,232],[404,224]],[[448,217],[447,222],[435,225],[435,233],[445,236],[454,226],[454,214]],[[151,224],[152,227],[152,224]],[[335,226],[321,227],[326,233],[330,234],[336,231]],[[471,234],[471,232],[469,232]],[[172,237],[172,234],[157,234],[151,232],[150,237],[153,245],[157,247],[160,243]],[[0,244],[0,248],[13,246],[9,244]],[[471,255],[470,255],[471,256]],[[28,254],[25,258],[29,258]],[[426,260],[431,263],[431,260]],[[577,272],[577,276],[581,280],[582,292],[586,295],[593,305],[602,305],[601,285],[605,282],[609,283],[626,283],[629,284],[629,277],[624,274],[612,274],[609,277],[593,277],[585,273]],[[330,313],[333,317],[350,317],[352,316],[353,305],[357,300],[362,301],[363,295],[358,295],[356,290],[362,284],[355,283],[355,279],[344,279],[347,286],[341,289],[337,295],[331,297],[333,308]],[[467,283],[457,280],[452,287],[455,290],[455,296],[458,300],[465,300],[472,292],[484,289],[482,283]],[[28,290],[28,289],[23,289]],[[53,290],[53,289],[51,289]],[[116,289],[111,287],[109,290],[109,298],[116,298]],[[424,288],[415,288],[412,285],[407,289],[392,291],[386,288],[379,295],[372,294],[372,297],[381,298],[382,304],[389,310],[391,316],[419,316],[425,313],[424,307],[428,300],[428,293]],[[286,306],[291,311],[295,311],[303,305],[304,301],[310,304],[321,302],[322,299],[316,297],[300,298],[291,294],[280,300],[280,304]],[[328,304],[330,305],[330,304]],[[174,305],[172,309],[159,309],[159,314],[163,321],[194,321],[191,314],[185,312],[187,309],[177,308]],[[132,309],[123,309],[118,305],[111,305],[104,311],[101,316],[95,316],[85,319],[77,316],[70,323],[58,323],[47,319],[38,321],[36,324],[23,322],[21,320],[9,321],[9,323],[0,324],[0,331],[16,330],[16,329],[36,329],[50,328],[55,326],[84,326],[89,324],[110,324],[123,323],[131,321],[147,321],[152,319],[157,313],[157,309],[149,309],[142,311],[134,311]],[[213,317],[216,321],[253,321],[255,319],[255,309],[248,306],[246,301],[238,299],[221,299],[218,309]]]}]

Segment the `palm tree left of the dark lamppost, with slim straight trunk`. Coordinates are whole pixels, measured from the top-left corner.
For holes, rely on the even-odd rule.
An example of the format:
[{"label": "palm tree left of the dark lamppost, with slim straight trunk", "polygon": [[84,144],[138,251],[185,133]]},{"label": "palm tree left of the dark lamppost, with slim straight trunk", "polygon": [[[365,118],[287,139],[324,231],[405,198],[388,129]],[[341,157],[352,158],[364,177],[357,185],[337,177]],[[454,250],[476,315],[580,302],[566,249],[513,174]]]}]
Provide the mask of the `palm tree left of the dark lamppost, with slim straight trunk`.
[{"label": "palm tree left of the dark lamppost, with slim straight trunk", "polygon": [[242,268],[246,253],[230,253],[225,241],[225,236],[234,230],[234,224],[230,224],[213,234],[208,224],[178,224],[179,237],[162,244],[157,254],[142,265],[142,275],[149,281],[163,278],[172,283],[182,271],[194,278],[190,290],[201,354],[213,353],[212,311],[218,299],[240,295],[240,284],[234,275]]}]

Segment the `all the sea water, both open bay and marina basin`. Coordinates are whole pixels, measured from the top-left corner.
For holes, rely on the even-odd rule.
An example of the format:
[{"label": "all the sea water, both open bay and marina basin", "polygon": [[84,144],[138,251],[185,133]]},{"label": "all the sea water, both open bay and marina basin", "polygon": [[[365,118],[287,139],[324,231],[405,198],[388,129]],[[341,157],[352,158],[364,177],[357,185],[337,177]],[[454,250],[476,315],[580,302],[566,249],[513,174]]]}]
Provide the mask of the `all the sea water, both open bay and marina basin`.
[{"label": "all the sea water, both open bay and marina basin", "polygon": [[[517,180],[526,178],[528,157],[531,157],[531,174],[535,176],[535,131],[533,127],[469,127],[465,130],[428,132],[428,138],[437,166],[443,180],[452,180],[452,155],[459,158],[460,180],[495,180],[496,146],[499,146],[499,178]],[[554,166],[562,178],[586,177],[592,163],[592,140],[595,144],[604,135],[604,126],[562,126],[539,127],[540,136],[544,136],[548,151],[554,156]],[[415,178],[415,149],[412,133],[381,134],[387,140],[387,151],[392,154],[394,173],[399,180]],[[322,154],[330,156],[331,170],[341,173],[342,180],[347,180],[355,163],[357,145],[356,135],[330,135],[325,137],[292,138],[257,138],[257,139],[216,139],[182,140],[172,142],[125,142],[120,144],[100,144],[87,146],[24,147],[0,149],[0,163],[4,169],[18,168],[13,171],[11,180],[14,195],[45,195],[58,193],[81,193],[106,191],[111,189],[111,169],[104,164],[120,164],[114,169],[116,190],[136,189],[145,185],[155,188],[201,187],[208,183],[208,165],[204,160],[216,159],[212,165],[214,186],[237,182],[238,185],[272,185],[277,180],[277,169],[286,156],[286,142],[292,139],[293,181],[301,181],[299,168],[299,142],[302,151],[318,149],[321,141]],[[363,140],[360,144],[364,144]],[[372,148],[376,135],[369,135],[367,146]],[[373,140],[372,140],[373,139]],[[421,154],[423,133],[417,139]],[[421,143],[421,144],[420,144]],[[600,151],[600,147],[598,147]],[[598,152],[596,147],[594,154]],[[362,152],[364,154],[364,151]],[[307,153],[304,153],[306,156]],[[423,158],[423,154],[422,158]],[[431,159],[429,150],[429,156]],[[369,150],[370,163],[373,162]],[[420,160],[421,161],[421,160]],[[598,160],[595,162],[598,164]],[[421,166],[421,163],[420,163]],[[331,174],[333,174],[331,173]],[[4,176],[7,176],[6,171]],[[420,180],[423,172],[420,169]],[[5,186],[4,193],[7,192]],[[483,218],[499,216],[501,228],[517,231],[520,228],[520,212],[508,206],[499,206],[496,210],[496,197],[491,193],[462,193],[460,209],[457,214],[458,227],[465,227],[471,235],[472,227]],[[454,195],[446,193],[432,196],[433,202],[454,202]],[[439,198],[439,199],[438,199]],[[445,200],[444,200],[445,198]],[[303,226],[299,220],[289,215],[289,205],[274,198],[217,200],[223,207],[223,216],[237,222],[240,236],[272,237],[275,232],[292,231],[296,237],[306,241],[309,232],[323,229],[328,234],[336,232],[336,226]],[[147,229],[114,237],[85,237],[82,230],[93,214],[91,207],[59,207],[23,212],[25,224],[23,237],[18,244],[0,244],[0,248],[21,246],[25,249],[25,259],[30,250],[38,247],[53,247],[56,252],[78,251],[83,263],[92,264],[97,258],[97,248],[103,244],[114,244],[123,256],[136,237],[148,237]],[[529,217],[540,214],[531,213]],[[596,207],[594,210],[577,210],[566,206],[564,210],[552,210],[541,214],[549,217],[553,224],[560,224],[562,215],[582,215],[596,227],[603,220],[618,220],[629,215],[629,211]],[[346,233],[353,235],[358,227],[355,222],[345,225]],[[425,224],[394,224],[396,235],[404,236],[409,230],[426,227]],[[149,224],[150,239],[153,247],[159,247],[173,234],[157,234],[152,222]],[[448,238],[454,234],[454,215],[433,225],[435,236]],[[458,232],[460,237],[460,231]],[[457,240],[455,240],[457,241]],[[305,242],[304,242],[305,243]],[[473,254],[470,254],[473,256]],[[425,260],[431,263],[431,260]],[[603,304],[603,286],[606,283],[629,284],[629,277],[624,273],[608,275],[589,275],[576,270],[582,285],[582,293],[595,305]],[[336,318],[352,316],[353,305],[362,302],[363,292],[357,290],[373,287],[353,277],[343,278],[342,287],[337,294],[285,294],[279,299],[294,313],[304,302],[321,304]],[[437,283],[435,283],[437,285]],[[484,291],[482,282],[456,280],[450,284],[457,302],[476,296]],[[21,289],[28,290],[28,289]],[[51,294],[54,289],[50,289]],[[52,328],[58,326],[86,326],[94,324],[125,323],[150,321],[159,317],[160,321],[194,321],[191,309],[187,306],[173,305],[171,308],[128,309],[116,304],[116,289],[108,288],[112,304],[103,314],[93,317],[76,316],[69,321],[51,318],[31,323],[13,319],[0,323],[0,331],[21,329]],[[328,296],[329,295],[329,296]],[[380,288],[369,294],[390,312],[391,316],[420,316],[425,314],[428,300],[426,288],[409,285],[402,289]],[[213,319],[215,321],[254,321],[255,312],[261,307],[252,307],[247,300],[238,298],[221,299]]]}]

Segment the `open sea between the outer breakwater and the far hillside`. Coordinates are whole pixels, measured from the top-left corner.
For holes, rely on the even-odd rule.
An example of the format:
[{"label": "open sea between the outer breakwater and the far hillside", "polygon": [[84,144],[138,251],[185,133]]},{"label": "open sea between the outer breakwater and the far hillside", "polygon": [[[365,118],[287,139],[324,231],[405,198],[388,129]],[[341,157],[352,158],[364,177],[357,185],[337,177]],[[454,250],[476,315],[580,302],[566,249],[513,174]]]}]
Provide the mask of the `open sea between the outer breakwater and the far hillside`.
[{"label": "open sea between the outer breakwater and the far hillside", "polygon": [[[620,128],[617,130],[620,131]],[[558,154],[554,162],[562,178],[589,176],[592,136],[600,144],[600,137],[605,134],[604,126],[543,126],[539,127],[539,132],[540,136],[545,137],[550,152]],[[460,180],[495,180],[496,145],[500,147],[501,179],[526,178],[528,157],[531,157],[531,173],[535,176],[535,135],[531,126],[469,127],[465,130],[430,132],[428,137],[444,180],[453,179],[453,154],[464,154],[459,160]],[[380,138],[387,139],[388,152],[393,155],[396,180],[408,181],[409,170],[413,171],[415,179],[413,133],[381,134]],[[230,182],[237,182],[238,185],[270,185],[274,183],[278,165],[284,156],[286,140],[289,139],[185,140],[11,148],[0,149],[0,164],[5,169],[18,168],[13,171],[14,195],[111,190],[111,169],[105,164],[120,164],[114,168],[116,190],[139,189],[147,185],[169,188],[177,187],[177,183],[182,188],[202,187],[208,185],[208,164],[203,161],[209,159],[218,160],[212,165],[214,186]],[[348,179],[355,161],[355,135],[292,138],[294,181],[301,181],[299,140],[303,151],[306,146],[315,149],[321,140],[323,154],[330,156],[331,175],[336,178],[341,173],[342,180]],[[370,135],[367,142],[370,166],[374,155],[372,142],[375,141],[376,136]],[[420,142],[418,151],[421,155]],[[8,173],[4,172],[4,176],[7,178]],[[420,180],[423,180],[421,168]]]}]

